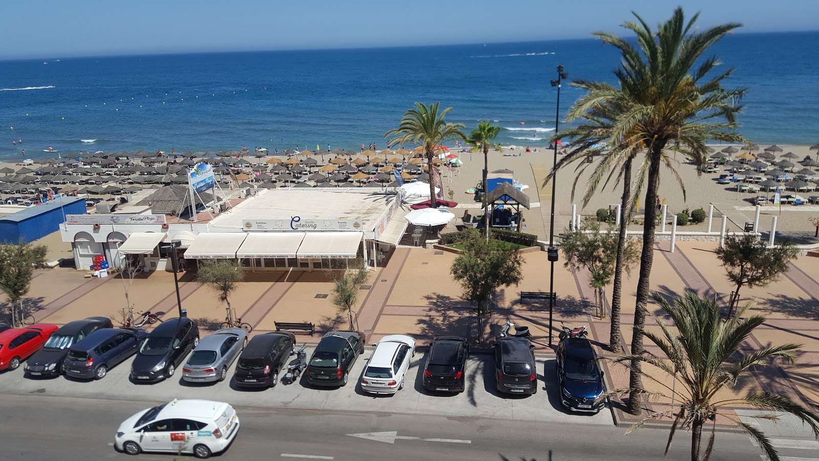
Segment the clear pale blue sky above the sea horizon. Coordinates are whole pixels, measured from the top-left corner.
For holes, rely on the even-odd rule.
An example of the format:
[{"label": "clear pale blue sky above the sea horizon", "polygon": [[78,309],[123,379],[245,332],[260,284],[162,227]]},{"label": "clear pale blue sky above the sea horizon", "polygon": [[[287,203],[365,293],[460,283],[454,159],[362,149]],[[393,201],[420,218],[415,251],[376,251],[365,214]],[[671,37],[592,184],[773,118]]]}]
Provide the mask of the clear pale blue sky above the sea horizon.
[{"label": "clear pale blue sky above the sea horizon", "polygon": [[817,0],[40,0],[3,2],[0,59],[577,39],[681,4],[700,27],[817,30]]}]

